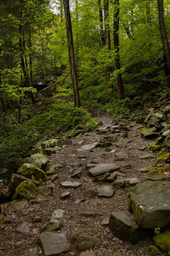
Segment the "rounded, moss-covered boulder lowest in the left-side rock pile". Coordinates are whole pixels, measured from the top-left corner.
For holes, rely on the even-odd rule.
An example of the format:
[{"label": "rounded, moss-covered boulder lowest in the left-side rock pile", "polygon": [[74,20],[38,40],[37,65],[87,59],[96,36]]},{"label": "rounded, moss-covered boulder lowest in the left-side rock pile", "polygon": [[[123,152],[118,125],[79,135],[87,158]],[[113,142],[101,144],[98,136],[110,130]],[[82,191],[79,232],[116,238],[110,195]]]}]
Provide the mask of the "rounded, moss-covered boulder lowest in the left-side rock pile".
[{"label": "rounded, moss-covered boulder lowest in the left-side rock pile", "polygon": [[19,186],[17,186],[13,198],[14,199],[26,198],[28,200],[31,200],[31,199],[34,199],[37,194],[38,194],[37,187],[33,183],[29,181],[23,181],[22,183],[20,183]]}]

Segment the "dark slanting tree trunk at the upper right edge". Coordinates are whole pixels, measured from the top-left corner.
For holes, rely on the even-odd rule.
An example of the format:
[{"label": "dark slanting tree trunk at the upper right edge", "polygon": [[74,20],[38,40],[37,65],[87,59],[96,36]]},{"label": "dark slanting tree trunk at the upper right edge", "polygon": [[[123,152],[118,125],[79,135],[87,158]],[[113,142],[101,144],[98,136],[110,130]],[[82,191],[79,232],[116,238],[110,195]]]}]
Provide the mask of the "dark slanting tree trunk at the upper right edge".
[{"label": "dark slanting tree trunk at the upper right edge", "polygon": [[159,17],[159,30],[161,34],[161,40],[163,45],[164,54],[167,60],[168,68],[170,70],[170,46],[167,38],[167,32],[164,23],[164,6],[163,0],[157,0],[158,3],[158,17]]}]

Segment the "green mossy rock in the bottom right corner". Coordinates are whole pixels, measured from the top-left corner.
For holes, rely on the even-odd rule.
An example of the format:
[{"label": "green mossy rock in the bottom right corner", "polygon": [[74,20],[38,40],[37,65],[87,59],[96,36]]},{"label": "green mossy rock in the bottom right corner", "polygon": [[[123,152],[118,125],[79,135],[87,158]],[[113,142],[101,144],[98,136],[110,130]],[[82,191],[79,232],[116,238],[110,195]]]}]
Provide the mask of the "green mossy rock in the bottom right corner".
[{"label": "green mossy rock in the bottom right corner", "polygon": [[158,245],[163,252],[170,251],[170,230],[166,230],[161,234],[154,236],[153,241]]}]

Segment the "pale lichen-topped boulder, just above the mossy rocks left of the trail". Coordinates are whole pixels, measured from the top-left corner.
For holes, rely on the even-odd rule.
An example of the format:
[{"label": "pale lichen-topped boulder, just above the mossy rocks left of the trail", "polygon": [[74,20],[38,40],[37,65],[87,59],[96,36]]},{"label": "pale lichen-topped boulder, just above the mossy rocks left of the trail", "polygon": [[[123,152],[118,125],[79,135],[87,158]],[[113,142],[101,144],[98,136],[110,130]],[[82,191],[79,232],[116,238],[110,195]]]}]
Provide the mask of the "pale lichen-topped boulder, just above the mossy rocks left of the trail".
[{"label": "pale lichen-topped boulder, just above the mossy rocks left of the trail", "polygon": [[34,166],[36,166],[37,168],[45,171],[47,163],[49,162],[47,157],[45,157],[43,154],[33,154],[30,158],[31,164],[34,164]]}]

